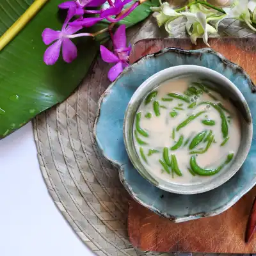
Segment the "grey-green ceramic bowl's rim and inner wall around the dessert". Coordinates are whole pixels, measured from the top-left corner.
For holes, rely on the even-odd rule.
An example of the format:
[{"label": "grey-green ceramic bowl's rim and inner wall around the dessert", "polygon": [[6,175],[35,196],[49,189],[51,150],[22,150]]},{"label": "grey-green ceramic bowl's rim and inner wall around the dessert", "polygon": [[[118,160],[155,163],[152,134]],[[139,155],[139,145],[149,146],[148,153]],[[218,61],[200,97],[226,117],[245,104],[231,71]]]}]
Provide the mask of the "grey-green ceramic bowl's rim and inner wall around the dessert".
[{"label": "grey-green ceramic bowl's rim and inner wall around the dessert", "polygon": [[[141,163],[140,157],[136,153],[133,140],[133,127],[136,112],[145,97],[154,90],[159,84],[166,80],[177,77],[198,77],[201,80],[207,80],[210,84],[216,86],[214,90],[227,97],[237,108],[241,115],[241,143],[236,157],[224,170],[210,177],[210,179],[202,179],[202,182],[194,184],[177,184],[170,180],[161,179],[148,172],[147,168]],[[170,88],[172,92],[172,88]],[[125,118],[124,118],[124,143],[128,156],[142,177],[154,184],[160,189],[178,194],[196,194],[214,189],[229,180],[241,167],[252,143],[252,118],[248,104],[243,97],[243,94],[237,89],[227,77],[220,73],[211,70],[210,68],[198,67],[195,65],[180,65],[176,67],[166,68],[149,77],[141,86],[134,92],[131,100],[128,103]]]}]

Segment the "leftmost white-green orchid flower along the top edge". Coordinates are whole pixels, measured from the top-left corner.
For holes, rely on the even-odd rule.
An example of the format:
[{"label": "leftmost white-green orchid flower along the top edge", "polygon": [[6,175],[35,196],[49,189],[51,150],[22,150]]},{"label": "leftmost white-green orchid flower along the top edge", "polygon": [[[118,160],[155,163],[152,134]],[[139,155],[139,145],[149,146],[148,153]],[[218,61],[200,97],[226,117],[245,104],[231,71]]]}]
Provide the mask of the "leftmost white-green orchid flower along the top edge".
[{"label": "leftmost white-green orchid flower along the top edge", "polygon": [[159,27],[161,27],[164,23],[170,22],[172,20],[177,19],[177,17],[182,16],[181,13],[175,12],[175,10],[168,4],[167,2],[162,3],[160,2],[159,7],[152,7],[151,10],[154,12],[159,12],[159,14],[156,15],[157,24]]}]

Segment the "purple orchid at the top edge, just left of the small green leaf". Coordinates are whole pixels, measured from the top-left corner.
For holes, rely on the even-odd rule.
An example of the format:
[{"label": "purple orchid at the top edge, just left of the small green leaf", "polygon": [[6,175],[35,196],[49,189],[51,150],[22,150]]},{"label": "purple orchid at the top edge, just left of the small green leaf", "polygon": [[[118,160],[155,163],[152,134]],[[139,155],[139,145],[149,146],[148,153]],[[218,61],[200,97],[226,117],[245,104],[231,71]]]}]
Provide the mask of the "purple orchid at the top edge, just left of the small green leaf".
[{"label": "purple orchid at the top edge, just left of the small green leaf", "polygon": [[100,20],[107,19],[110,22],[118,22],[125,17],[127,17],[140,3],[136,2],[132,4],[131,8],[127,12],[125,12],[123,15],[121,15],[118,18],[112,18],[111,16],[118,15],[122,12],[125,4],[130,3],[132,0],[115,0],[115,3],[113,3],[111,6],[109,6],[108,9],[102,10],[100,12],[99,17],[90,17],[90,18],[84,18],[75,20],[74,22],[70,22],[70,26],[83,26],[83,27],[90,27],[99,22]]}]

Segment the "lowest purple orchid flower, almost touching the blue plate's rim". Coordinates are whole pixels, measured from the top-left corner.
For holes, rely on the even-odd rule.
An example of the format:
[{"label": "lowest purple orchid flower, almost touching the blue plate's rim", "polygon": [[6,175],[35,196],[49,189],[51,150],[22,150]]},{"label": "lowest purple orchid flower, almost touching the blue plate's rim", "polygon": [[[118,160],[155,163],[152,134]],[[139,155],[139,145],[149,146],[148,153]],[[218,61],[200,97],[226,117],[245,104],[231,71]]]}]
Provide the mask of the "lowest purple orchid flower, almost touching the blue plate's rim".
[{"label": "lowest purple orchid flower, almost touching the blue plate's rim", "polygon": [[131,45],[126,47],[125,25],[121,25],[113,35],[114,53],[109,51],[104,45],[100,45],[100,54],[102,60],[107,63],[116,63],[108,72],[108,79],[113,82],[116,77],[129,66],[129,55]]}]

